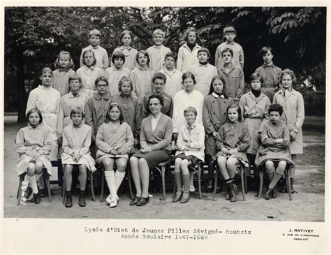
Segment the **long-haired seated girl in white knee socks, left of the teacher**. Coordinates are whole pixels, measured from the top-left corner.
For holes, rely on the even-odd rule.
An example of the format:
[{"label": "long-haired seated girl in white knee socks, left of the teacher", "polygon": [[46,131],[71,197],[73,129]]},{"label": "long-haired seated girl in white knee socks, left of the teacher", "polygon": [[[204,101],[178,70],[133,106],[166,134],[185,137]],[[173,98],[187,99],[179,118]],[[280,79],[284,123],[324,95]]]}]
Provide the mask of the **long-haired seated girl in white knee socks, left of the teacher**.
[{"label": "long-haired seated girl in white knee socks, left of the teacher", "polygon": [[96,162],[102,163],[105,168],[105,180],[110,190],[106,201],[110,207],[116,207],[119,201],[117,190],[124,179],[128,154],[134,143],[131,127],[124,122],[122,108],[118,103],[110,103],[108,118],[108,122],[101,124],[96,134]]}]

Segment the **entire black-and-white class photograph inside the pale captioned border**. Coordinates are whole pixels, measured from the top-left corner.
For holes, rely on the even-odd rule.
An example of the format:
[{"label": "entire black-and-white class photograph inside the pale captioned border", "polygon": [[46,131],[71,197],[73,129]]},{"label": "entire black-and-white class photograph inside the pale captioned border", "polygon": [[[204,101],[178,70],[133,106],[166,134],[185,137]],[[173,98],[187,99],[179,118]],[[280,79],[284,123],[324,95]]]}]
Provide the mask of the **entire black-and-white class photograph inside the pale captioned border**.
[{"label": "entire black-and-white class photograph inside the pale captioned border", "polygon": [[325,222],[327,7],[3,14],[3,218]]}]

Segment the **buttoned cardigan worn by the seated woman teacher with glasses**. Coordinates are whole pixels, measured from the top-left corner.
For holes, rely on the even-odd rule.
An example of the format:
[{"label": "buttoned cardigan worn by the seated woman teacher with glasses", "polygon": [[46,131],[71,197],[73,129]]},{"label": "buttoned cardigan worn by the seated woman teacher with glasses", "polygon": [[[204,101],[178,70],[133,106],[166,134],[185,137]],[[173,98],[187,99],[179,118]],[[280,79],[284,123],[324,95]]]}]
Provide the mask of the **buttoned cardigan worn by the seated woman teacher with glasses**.
[{"label": "buttoned cardigan worn by the seated woman teacher with glasses", "polygon": [[159,122],[152,131],[152,115],[142,119],[140,131],[140,146],[149,146],[153,150],[167,150],[170,152],[170,142],[172,137],[172,121],[170,117],[161,113]]}]

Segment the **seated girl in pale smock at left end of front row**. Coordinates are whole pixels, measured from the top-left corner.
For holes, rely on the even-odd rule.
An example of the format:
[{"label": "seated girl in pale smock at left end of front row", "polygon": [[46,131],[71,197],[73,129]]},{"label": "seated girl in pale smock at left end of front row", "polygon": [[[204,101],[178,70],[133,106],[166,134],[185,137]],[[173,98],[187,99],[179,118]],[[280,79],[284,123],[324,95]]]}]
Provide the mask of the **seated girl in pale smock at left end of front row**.
[{"label": "seated girl in pale smock at left end of front row", "polygon": [[27,180],[34,193],[34,203],[41,202],[37,182],[43,174],[43,167],[51,174],[52,164],[50,163],[50,152],[56,141],[52,139],[50,131],[43,122],[41,111],[38,108],[31,108],[27,112],[28,126],[18,131],[15,140],[15,150],[20,154],[17,160],[17,174],[27,172]]}]

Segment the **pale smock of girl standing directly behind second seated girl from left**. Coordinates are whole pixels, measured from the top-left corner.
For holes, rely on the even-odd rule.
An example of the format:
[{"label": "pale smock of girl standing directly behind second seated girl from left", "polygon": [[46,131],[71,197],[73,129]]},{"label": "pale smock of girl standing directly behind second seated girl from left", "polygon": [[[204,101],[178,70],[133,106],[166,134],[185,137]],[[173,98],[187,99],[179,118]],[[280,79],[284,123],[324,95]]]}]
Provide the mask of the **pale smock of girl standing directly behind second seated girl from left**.
[{"label": "pale smock of girl standing directly behind second seated girl from left", "polygon": [[[70,112],[73,108],[80,108],[84,111],[89,96],[80,91],[76,96],[72,92],[64,95],[60,99],[59,114],[57,115],[57,136],[61,137],[66,126],[73,124],[70,118]],[[84,122],[84,119],[83,119]]]}]

